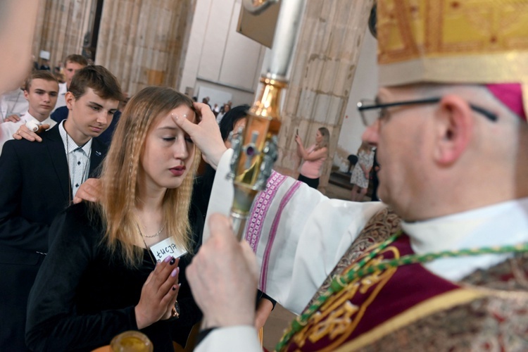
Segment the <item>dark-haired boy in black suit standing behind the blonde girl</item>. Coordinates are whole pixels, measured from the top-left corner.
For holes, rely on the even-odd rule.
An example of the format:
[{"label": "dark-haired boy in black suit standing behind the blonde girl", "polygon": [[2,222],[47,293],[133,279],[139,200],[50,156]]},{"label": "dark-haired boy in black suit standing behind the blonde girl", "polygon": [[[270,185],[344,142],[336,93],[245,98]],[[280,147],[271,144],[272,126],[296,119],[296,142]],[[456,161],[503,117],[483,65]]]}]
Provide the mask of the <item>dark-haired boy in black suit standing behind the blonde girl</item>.
[{"label": "dark-haired boy in black suit standing behind the blonde girl", "polygon": [[73,77],[65,96],[68,119],[41,143],[11,140],[0,156],[0,351],[26,351],[27,296],[48,250],[49,225],[106,155],[96,138],[122,100],[116,78],[102,66]]}]

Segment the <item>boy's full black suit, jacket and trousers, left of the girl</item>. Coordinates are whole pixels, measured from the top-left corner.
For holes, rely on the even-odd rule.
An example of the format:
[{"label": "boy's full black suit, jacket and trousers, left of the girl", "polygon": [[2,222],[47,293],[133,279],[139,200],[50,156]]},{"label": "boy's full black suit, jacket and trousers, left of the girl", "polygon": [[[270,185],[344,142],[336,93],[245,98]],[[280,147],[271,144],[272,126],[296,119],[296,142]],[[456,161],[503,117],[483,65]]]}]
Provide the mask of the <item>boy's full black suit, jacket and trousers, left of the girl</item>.
[{"label": "boy's full black suit, jacket and trousers, left of the girl", "polygon": [[[26,351],[27,296],[48,251],[51,222],[70,203],[68,161],[58,125],[42,142],[12,140],[0,156],[0,351]],[[106,155],[93,139],[90,176]]]}]

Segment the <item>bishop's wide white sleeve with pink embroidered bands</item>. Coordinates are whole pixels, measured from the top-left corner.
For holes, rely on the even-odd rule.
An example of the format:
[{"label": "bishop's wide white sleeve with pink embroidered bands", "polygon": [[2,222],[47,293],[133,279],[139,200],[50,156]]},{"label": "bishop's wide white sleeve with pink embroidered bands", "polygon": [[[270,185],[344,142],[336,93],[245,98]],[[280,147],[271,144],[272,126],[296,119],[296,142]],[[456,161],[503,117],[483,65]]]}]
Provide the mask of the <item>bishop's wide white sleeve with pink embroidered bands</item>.
[{"label": "bishop's wide white sleeve with pink embroidered bands", "polygon": [[[226,180],[232,150],[218,165],[210,213],[229,215],[233,185]],[[284,308],[299,314],[334,269],[368,219],[385,205],[328,199],[291,177],[274,172],[256,196],[246,227],[246,240],[256,253],[259,288]]]}]

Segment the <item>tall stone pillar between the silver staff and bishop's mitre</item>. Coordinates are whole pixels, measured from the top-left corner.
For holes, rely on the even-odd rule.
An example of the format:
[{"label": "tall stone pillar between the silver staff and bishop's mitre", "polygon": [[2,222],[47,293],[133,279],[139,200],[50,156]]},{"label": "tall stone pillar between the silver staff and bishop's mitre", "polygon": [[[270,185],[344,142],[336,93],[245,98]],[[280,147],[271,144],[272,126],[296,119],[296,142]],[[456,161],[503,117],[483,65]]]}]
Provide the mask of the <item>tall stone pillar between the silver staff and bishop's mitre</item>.
[{"label": "tall stone pillar between the silver staff and bishop's mitre", "polygon": [[289,88],[284,94],[275,168],[297,177],[300,160],[294,139],[296,129],[308,147],[315,143],[318,128],[327,127],[330,145],[320,180],[322,191],[332,171],[372,3],[372,0],[307,1]]}]

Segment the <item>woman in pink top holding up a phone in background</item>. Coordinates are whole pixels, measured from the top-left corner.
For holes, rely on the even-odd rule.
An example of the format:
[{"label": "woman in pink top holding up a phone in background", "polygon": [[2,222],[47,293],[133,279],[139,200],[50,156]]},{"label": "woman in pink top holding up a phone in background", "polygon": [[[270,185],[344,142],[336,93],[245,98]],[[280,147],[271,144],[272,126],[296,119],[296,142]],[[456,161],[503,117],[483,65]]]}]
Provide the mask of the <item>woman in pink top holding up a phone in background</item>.
[{"label": "woman in pink top holding up a phone in background", "polygon": [[330,132],[328,132],[326,127],[320,127],[315,134],[315,144],[308,149],[304,149],[303,140],[298,133],[295,134],[295,142],[297,143],[297,155],[303,159],[297,180],[317,189],[319,187],[322,164],[325,163],[328,156]]}]

